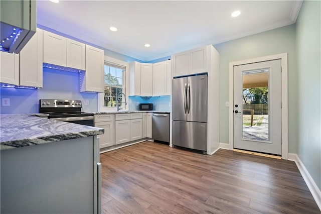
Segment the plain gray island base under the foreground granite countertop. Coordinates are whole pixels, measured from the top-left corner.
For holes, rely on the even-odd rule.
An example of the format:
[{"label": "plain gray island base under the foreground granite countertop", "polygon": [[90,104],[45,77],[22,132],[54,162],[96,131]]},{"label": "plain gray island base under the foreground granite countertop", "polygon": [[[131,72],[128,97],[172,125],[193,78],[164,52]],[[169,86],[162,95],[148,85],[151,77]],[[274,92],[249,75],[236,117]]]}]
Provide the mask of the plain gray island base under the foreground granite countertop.
[{"label": "plain gray island base under the foreground granite countertop", "polygon": [[96,138],[1,151],[1,213],[97,213]]}]

